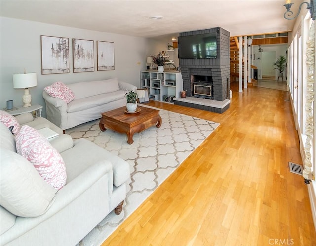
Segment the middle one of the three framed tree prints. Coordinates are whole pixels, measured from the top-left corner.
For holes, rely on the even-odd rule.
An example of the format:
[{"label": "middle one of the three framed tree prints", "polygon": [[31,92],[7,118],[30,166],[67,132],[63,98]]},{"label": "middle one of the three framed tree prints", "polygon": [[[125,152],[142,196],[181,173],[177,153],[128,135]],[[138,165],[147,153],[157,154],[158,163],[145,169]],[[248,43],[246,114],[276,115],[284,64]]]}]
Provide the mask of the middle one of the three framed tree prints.
[{"label": "middle one of the three framed tree prints", "polygon": [[94,71],[94,41],[73,39],[74,73]]}]

